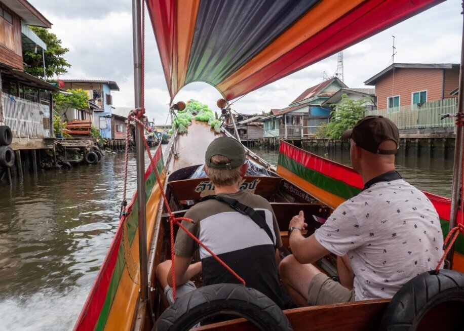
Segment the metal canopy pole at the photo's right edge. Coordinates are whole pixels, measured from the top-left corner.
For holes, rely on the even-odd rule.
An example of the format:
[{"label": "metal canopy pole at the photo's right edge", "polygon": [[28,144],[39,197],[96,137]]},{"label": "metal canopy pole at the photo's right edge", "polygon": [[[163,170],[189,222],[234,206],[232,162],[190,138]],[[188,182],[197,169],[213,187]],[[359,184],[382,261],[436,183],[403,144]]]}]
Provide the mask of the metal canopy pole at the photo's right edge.
[{"label": "metal canopy pole at the photo's right edge", "polygon": [[[464,3],[463,3],[464,5]],[[461,13],[462,14],[462,13]],[[459,97],[457,101],[457,112],[464,112],[464,21],[462,22],[462,41],[461,41],[461,64],[459,68]],[[464,127],[456,127],[456,143],[454,147],[454,169],[453,169],[453,185],[451,195],[451,213],[449,216],[449,231],[456,226],[457,211],[459,208],[459,196],[461,190],[462,177],[462,147],[464,146]],[[445,268],[453,268],[454,247],[448,253],[445,260]]]}]

